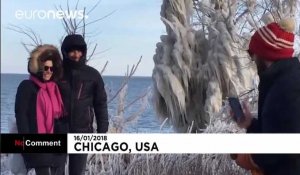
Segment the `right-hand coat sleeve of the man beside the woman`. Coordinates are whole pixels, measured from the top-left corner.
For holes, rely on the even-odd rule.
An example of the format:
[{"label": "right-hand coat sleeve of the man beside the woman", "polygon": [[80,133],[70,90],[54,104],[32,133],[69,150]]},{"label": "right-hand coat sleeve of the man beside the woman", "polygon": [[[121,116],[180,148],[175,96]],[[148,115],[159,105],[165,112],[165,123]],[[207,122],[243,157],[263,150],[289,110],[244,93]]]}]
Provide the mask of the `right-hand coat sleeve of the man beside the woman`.
[{"label": "right-hand coat sleeve of the man beside the woman", "polygon": [[105,92],[103,79],[99,72],[97,72],[93,103],[97,122],[97,133],[106,133],[108,131],[109,124],[107,112],[107,95]]}]

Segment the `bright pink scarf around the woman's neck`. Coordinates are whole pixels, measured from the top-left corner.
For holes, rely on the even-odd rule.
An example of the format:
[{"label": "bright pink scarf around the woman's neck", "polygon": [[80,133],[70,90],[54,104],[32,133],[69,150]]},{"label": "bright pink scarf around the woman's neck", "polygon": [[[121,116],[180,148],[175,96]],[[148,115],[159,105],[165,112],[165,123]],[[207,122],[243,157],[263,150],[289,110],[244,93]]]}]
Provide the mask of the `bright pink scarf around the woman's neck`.
[{"label": "bright pink scarf around the woman's neck", "polygon": [[30,76],[30,80],[40,87],[36,101],[38,133],[53,133],[54,119],[63,116],[63,102],[59,89],[54,82],[41,82],[34,76]]}]

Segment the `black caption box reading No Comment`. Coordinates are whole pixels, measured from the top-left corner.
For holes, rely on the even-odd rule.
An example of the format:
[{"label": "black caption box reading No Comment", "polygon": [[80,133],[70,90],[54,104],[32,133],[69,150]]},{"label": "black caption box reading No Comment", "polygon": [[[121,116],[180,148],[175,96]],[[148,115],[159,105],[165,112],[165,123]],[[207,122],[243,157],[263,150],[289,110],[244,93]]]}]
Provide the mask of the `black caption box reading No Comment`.
[{"label": "black caption box reading No Comment", "polygon": [[1,134],[1,153],[67,153],[67,134]]}]

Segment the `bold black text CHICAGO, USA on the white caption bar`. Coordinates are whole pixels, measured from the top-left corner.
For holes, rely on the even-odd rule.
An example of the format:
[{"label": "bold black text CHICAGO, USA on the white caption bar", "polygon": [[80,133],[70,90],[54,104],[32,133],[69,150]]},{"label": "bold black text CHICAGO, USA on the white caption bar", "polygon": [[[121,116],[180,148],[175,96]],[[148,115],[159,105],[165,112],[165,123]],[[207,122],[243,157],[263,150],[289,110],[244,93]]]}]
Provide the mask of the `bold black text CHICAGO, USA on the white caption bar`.
[{"label": "bold black text CHICAGO, USA on the white caption bar", "polygon": [[[74,144],[76,151],[122,151],[131,153],[131,148],[126,142],[76,142]],[[159,152],[156,142],[135,142],[136,151]]]}]

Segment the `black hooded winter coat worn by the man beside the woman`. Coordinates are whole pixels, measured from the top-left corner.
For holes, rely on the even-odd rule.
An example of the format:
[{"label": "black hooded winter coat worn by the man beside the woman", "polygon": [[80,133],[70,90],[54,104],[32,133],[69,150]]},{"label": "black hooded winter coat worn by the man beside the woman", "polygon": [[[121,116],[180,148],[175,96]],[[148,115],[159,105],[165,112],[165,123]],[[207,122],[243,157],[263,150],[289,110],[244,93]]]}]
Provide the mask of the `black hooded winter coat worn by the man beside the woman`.
[{"label": "black hooded winter coat worn by the man beside the woman", "polygon": [[[78,61],[68,58],[68,52],[78,49],[83,57]],[[92,133],[96,118],[97,132],[108,130],[107,96],[100,73],[86,65],[87,46],[81,35],[68,35],[61,47],[64,76],[59,82],[68,126],[71,133]]]}]

